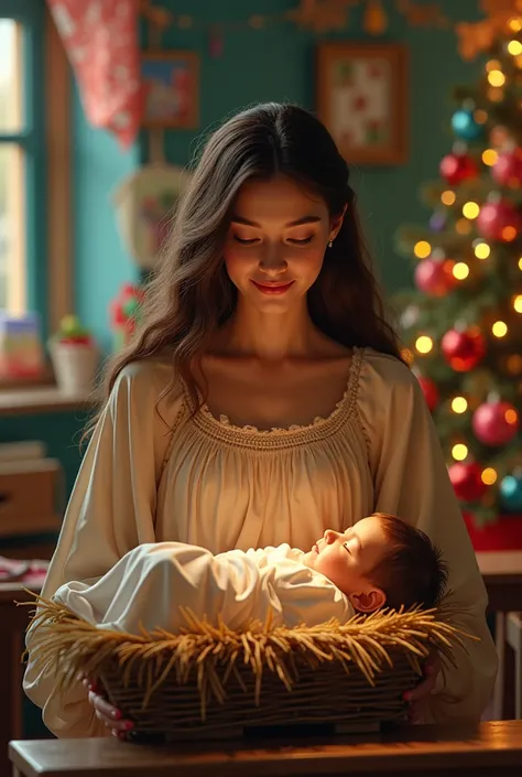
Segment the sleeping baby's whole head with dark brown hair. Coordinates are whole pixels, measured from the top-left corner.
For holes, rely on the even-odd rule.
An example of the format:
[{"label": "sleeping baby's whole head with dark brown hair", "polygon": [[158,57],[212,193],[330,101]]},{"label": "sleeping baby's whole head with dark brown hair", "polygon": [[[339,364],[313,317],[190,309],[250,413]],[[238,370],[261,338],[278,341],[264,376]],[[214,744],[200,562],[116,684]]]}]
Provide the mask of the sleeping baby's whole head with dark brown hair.
[{"label": "sleeping baby's whole head with dark brown hair", "polygon": [[344,533],[327,529],[304,563],[328,578],[360,613],[435,607],[446,586],[441,552],[424,531],[383,512]]}]

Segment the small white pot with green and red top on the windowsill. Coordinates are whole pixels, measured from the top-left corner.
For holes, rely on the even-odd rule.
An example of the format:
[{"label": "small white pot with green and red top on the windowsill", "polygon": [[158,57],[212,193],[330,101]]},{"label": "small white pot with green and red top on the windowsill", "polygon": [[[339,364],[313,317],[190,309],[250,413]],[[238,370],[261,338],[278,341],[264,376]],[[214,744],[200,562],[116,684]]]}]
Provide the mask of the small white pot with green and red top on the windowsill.
[{"label": "small white pot with green and red top on the windowsill", "polygon": [[50,341],[58,388],[66,393],[90,392],[95,386],[99,352],[93,335],[75,315],[66,315]]}]

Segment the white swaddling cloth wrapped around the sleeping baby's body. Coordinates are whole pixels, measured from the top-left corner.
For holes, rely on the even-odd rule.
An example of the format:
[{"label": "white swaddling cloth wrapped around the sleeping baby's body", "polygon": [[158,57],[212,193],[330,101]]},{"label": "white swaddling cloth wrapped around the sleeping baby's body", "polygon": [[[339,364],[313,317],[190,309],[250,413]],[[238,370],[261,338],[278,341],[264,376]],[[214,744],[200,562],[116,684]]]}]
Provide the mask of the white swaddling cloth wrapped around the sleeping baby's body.
[{"label": "white swaddling cloth wrapped around the sleeping baby's body", "polygon": [[231,629],[252,619],[289,627],[348,620],[348,598],[323,574],[301,563],[287,544],[262,550],[210,551],[183,542],[141,544],[95,582],[72,581],[53,596],[99,628],[139,634],[186,626],[180,606]]}]

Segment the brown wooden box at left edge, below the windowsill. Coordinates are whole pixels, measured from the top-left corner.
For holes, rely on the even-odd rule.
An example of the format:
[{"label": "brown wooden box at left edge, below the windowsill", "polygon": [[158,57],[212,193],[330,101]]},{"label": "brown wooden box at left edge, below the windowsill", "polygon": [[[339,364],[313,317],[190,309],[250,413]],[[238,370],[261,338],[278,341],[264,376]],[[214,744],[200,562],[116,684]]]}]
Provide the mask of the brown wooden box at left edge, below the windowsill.
[{"label": "brown wooden box at left edge, below the windowsill", "polygon": [[0,464],[0,538],[59,529],[63,472],[54,458]]}]

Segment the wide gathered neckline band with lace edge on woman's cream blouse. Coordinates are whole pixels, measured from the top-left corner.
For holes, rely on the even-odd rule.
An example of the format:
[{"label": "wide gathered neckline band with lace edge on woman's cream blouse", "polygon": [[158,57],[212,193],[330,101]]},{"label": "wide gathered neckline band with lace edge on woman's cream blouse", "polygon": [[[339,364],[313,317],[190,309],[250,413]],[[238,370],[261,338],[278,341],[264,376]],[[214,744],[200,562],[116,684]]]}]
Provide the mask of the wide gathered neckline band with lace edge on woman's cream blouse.
[{"label": "wide gathered neckline band with lace edge on woman's cream blouse", "polygon": [[289,438],[292,438],[294,444],[295,442],[323,439],[333,433],[339,423],[344,423],[354,413],[362,358],[363,349],[354,347],[348,382],[341,399],[329,416],[318,416],[308,424],[292,424],[286,428],[274,427],[265,430],[252,425],[238,427],[231,423],[227,416],[220,416],[219,418],[213,416],[207,404],[202,406],[194,416],[193,421],[198,427],[204,428],[207,433],[210,433],[210,436],[219,440],[225,436],[237,445],[255,440],[257,446],[280,447],[282,445],[284,447],[284,442],[290,442]]}]

